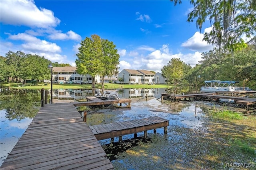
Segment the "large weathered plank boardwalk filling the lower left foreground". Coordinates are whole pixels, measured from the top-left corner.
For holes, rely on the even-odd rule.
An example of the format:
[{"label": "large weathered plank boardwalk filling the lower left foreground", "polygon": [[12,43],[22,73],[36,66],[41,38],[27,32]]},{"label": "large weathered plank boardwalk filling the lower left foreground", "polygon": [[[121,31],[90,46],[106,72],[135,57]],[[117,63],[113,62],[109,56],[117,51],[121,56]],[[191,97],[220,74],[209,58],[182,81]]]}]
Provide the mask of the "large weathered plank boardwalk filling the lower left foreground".
[{"label": "large weathered plank boardwalk filling the lower left foreground", "polygon": [[1,170],[114,169],[73,103],[42,107]]}]

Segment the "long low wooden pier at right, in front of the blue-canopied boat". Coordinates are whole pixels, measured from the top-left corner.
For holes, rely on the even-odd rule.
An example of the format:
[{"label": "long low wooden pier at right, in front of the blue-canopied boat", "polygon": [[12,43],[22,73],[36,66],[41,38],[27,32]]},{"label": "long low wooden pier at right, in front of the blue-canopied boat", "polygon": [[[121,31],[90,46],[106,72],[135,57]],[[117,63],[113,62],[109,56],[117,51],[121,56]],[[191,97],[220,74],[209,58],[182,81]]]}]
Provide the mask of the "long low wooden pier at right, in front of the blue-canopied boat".
[{"label": "long low wooden pier at right, in front of the blue-canopied boat", "polygon": [[[223,91],[222,91],[223,92]],[[256,91],[249,91],[250,93],[256,93]],[[248,92],[248,93],[249,93]],[[244,92],[242,92],[244,93]],[[210,100],[213,101],[214,99],[230,99],[234,100],[235,104],[245,105],[246,110],[248,110],[249,105],[256,105],[256,98],[245,98],[245,97],[235,97],[235,96],[228,96],[228,95],[220,95],[219,93],[196,93],[196,94],[190,94],[190,95],[173,95],[168,93],[162,93],[162,100],[164,98],[169,98],[171,100],[181,100],[184,99],[186,101],[189,100],[195,100],[195,99],[204,99],[204,100]]]}]

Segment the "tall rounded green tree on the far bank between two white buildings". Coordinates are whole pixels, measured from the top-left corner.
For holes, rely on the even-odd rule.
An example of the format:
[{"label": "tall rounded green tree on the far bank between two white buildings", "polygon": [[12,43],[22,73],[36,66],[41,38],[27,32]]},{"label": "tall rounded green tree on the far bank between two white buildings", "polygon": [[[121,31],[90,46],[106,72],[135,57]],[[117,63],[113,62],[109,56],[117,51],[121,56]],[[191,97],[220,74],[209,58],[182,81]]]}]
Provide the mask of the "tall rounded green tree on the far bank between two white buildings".
[{"label": "tall rounded green tree on the far bank between two white buildings", "polygon": [[100,75],[104,87],[104,76],[114,75],[119,64],[119,54],[116,45],[108,40],[101,39],[98,35],[86,37],[81,41],[81,47],[76,54],[76,68],[80,74],[92,76],[92,88],[95,87],[95,76]]}]

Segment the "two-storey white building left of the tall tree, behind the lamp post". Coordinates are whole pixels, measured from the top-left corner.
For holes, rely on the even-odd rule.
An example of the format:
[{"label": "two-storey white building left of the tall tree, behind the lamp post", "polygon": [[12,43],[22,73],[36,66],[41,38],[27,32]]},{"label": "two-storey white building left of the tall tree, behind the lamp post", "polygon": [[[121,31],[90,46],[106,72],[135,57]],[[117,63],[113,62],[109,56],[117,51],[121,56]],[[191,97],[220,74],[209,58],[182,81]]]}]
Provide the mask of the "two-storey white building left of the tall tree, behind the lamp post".
[{"label": "two-storey white building left of the tall tree, behind the lamp post", "polygon": [[[53,67],[53,83],[92,83],[92,76],[76,73],[76,67]],[[100,76],[96,76],[96,82],[100,83]]]}]

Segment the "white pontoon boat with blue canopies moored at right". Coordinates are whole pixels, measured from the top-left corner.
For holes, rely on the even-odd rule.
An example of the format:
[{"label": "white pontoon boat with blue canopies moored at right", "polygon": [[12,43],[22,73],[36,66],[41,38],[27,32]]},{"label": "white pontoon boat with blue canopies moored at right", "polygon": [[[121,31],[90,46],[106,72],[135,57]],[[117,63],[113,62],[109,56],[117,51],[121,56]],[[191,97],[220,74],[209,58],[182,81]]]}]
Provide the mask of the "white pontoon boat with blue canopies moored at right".
[{"label": "white pontoon boat with blue canopies moored at right", "polygon": [[239,81],[207,80],[204,83],[205,86],[201,87],[202,93],[216,93],[216,91],[235,91],[234,86]]}]

